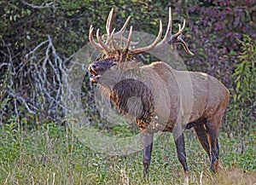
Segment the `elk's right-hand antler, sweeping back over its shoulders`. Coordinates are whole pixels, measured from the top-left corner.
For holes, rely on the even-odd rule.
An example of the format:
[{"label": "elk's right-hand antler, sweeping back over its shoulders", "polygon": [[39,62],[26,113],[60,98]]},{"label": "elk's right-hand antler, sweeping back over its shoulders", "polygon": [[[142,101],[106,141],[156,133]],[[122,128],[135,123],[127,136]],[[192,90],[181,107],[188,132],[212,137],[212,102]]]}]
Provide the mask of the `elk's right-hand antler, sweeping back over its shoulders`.
[{"label": "elk's right-hand antler, sweeping back over its shoulders", "polygon": [[155,48],[161,48],[164,45],[166,45],[166,43],[182,43],[183,48],[185,49],[185,51],[189,54],[189,55],[194,55],[190,50],[189,47],[187,46],[187,44],[183,41],[182,38],[182,32],[185,28],[185,23],[186,21],[183,20],[183,27],[180,28],[179,25],[179,31],[172,35],[172,10],[171,8],[169,8],[169,20],[168,20],[168,26],[166,29],[166,35],[165,37],[160,41],[160,43],[158,43],[158,41],[160,40],[161,37],[161,32],[162,32],[162,25],[161,25],[161,21],[160,21],[160,31],[159,34],[157,36],[157,38],[154,40],[154,43],[151,43],[150,45],[143,47],[143,48],[138,48],[138,49],[131,49],[130,50],[130,54],[131,55],[137,55],[137,54],[141,54],[141,53],[145,53],[150,49],[155,49]]}]

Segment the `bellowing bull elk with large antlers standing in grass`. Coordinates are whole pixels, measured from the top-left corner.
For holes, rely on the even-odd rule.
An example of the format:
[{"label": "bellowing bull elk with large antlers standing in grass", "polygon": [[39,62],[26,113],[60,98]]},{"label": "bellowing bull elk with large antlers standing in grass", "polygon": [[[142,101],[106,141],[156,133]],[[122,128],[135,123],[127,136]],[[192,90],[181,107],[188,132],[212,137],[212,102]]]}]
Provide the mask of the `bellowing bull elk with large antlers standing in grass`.
[{"label": "bellowing bull elk with large antlers standing in grass", "polygon": [[135,55],[172,43],[181,43],[189,55],[194,55],[181,37],[185,20],[182,27],[179,25],[179,31],[172,34],[171,9],[164,38],[161,39],[160,20],[157,38],[142,48],[131,47],[137,44],[131,41],[132,26],[128,38],[123,36],[130,18],[119,32],[115,32],[115,29],[111,29],[112,9],[106,24],[107,38],[104,40],[97,30],[96,41],[92,35],[93,27],[90,26],[90,43],[103,54],[88,68],[90,82],[102,87],[121,115],[134,118],[138,124],[143,141],[144,176],[148,173],[153,136],[158,131],[172,132],[177,158],[183,165],[183,171],[188,172],[183,127],[194,128],[201,146],[209,156],[210,170],[217,171],[218,130],[228,104],[229,91],[224,84],[206,73],[177,71],[160,61],[143,65],[136,59]]}]

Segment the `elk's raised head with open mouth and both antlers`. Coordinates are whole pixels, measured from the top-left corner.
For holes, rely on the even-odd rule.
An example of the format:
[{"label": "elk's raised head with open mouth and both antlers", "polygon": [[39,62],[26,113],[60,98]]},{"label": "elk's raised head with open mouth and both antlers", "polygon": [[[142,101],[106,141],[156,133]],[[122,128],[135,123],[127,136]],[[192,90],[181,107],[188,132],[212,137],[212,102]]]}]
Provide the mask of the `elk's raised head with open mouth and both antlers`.
[{"label": "elk's raised head with open mouth and both antlers", "polygon": [[108,14],[108,20],[106,24],[107,39],[105,41],[102,40],[98,29],[96,32],[97,43],[92,36],[94,28],[90,26],[90,43],[95,49],[102,51],[103,54],[100,60],[92,62],[88,68],[91,74],[90,82],[98,83],[102,74],[108,71],[108,69],[112,68],[113,66],[123,66],[121,67],[122,69],[131,68],[131,66],[137,66],[136,63],[139,63],[139,61],[134,58],[134,55],[143,54],[151,49],[161,48],[166,44],[181,43],[183,45],[183,48],[189,55],[194,55],[189,50],[187,44],[183,41],[182,38],[182,32],[185,27],[185,20],[183,20],[182,27],[178,25],[179,31],[176,34],[172,35],[171,8],[169,8],[169,21],[165,37],[161,39],[162,22],[160,20],[160,29],[157,38],[155,38],[153,43],[143,48],[130,47],[130,45],[137,45],[136,42],[131,41],[132,26],[130,27],[128,38],[125,38],[123,36],[130,19],[131,16],[128,17],[128,19],[125,21],[124,26],[120,29],[119,32],[115,32],[115,29],[113,29],[112,31],[111,26],[113,22],[113,9],[111,9],[110,13]]}]

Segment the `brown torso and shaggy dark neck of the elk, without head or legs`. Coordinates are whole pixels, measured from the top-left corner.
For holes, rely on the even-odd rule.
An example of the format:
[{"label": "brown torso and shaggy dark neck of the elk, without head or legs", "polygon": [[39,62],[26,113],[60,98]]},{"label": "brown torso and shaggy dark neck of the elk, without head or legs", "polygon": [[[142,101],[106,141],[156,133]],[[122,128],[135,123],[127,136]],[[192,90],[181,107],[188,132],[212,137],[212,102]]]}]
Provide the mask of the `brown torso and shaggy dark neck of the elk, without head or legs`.
[{"label": "brown torso and shaggy dark neck of the elk, without head or legs", "polygon": [[[150,124],[154,131],[172,131],[175,124],[185,125],[207,119],[218,130],[229,91],[216,78],[202,72],[177,71],[163,62],[133,69],[127,65],[129,63],[124,66],[128,68],[125,72],[120,68],[111,70],[106,73],[109,80],[100,81],[110,88],[109,97],[119,113],[127,114],[128,109],[132,109],[125,107],[127,100],[137,96],[143,103],[143,107],[137,107],[141,109],[139,112],[143,119],[139,115],[135,117],[137,122],[145,124],[140,124],[142,129]],[[135,70],[139,74],[135,74]]]}]

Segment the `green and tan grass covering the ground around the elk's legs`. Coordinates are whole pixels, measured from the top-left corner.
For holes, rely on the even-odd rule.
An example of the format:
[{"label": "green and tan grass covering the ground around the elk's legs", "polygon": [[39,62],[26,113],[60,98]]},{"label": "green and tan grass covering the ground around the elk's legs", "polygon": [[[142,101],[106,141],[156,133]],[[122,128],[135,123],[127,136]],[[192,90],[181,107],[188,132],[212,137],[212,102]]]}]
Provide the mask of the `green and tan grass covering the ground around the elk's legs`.
[{"label": "green and tan grass covering the ground around the elk's legs", "polygon": [[195,134],[189,130],[185,136],[189,175],[177,161],[172,135],[165,133],[154,142],[149,176],[143,179],[141,152],[96,153],[68,128],[45,124],[26,130],[13,122],[0,128],[0,184],[256,184],[255,133],[220,134],[218,174],[208,171]]}]

